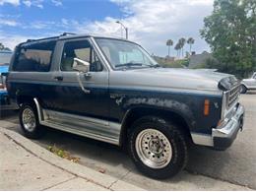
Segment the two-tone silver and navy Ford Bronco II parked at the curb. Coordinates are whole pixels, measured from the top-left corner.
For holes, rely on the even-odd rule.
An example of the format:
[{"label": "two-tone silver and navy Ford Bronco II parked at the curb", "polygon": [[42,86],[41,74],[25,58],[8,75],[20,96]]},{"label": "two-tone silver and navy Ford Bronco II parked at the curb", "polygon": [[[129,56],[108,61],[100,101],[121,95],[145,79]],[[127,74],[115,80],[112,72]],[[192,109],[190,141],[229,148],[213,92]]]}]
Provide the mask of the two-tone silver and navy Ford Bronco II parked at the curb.
[{"label": "two-tone silver and navy Ford Bronco II parked at the curb", "polygon": [[125,39],[28,40],[15,49],[7,88],[27,137],[47,126],[118,145],[154,178],[181,170],[188,145],[224,150],[243,126],[234,76],[161,68]]}]

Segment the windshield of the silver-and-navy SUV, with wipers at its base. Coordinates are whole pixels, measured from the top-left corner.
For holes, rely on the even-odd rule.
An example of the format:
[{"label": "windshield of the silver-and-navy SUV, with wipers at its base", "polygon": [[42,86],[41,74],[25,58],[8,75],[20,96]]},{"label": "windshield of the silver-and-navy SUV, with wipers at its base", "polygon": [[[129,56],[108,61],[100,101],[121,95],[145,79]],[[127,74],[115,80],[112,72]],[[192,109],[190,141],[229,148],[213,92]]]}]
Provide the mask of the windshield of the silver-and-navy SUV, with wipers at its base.
[{"label": "windshield of the silver-and-navy SUV, with wipers at its base", "polygon": [[158,65],[138,44],[110,38],[96,38],[96,42],[114,69],[141,68]]}]

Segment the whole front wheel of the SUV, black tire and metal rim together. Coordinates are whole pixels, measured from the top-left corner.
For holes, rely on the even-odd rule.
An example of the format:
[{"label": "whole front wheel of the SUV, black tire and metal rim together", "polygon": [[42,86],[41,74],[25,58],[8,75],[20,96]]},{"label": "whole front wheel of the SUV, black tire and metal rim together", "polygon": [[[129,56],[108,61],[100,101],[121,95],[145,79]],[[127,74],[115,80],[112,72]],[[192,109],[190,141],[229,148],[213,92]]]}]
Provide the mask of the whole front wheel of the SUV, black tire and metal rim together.
[{"label": "whole front wheel of the SUV, black tire and metal rim together", "polygon": [[188,160],[182,131],[173,123],[154,116],[134,123],[130,154],[140,171],[159,179],[175,175]]}]

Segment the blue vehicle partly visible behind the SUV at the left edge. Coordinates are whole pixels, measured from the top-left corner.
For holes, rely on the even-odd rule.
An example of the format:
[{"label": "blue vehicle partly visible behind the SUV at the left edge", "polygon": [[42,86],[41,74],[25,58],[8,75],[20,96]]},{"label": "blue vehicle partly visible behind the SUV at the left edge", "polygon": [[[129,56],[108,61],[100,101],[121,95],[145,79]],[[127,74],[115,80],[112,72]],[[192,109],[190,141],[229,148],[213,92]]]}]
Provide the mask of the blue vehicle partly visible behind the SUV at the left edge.
[{"label": "blue vehicle partly visible behind the SUV at the left edge", "polygon": [[6,75],[8,73],[12,55],[12,51],[0,50],[0,109],[17,108],[16,104],[11,104],[6,89]]}]

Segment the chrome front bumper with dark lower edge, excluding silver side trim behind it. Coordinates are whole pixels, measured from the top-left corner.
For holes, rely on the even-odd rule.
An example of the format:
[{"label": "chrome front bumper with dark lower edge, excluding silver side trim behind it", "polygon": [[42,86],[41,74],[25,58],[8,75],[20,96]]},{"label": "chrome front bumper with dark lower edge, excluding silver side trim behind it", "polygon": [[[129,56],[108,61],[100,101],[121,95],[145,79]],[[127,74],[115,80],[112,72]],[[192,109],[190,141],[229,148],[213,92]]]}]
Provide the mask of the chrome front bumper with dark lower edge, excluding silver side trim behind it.
[{"label": "chrome front bumper with dark lower edge, excluding silver side trim behind it", "polygon": [[233,116],[224,125],[212,130],[213,147],[215,149],[225,150],[232,144],[238,131],[242,130],[244,113],[244,107],[237,103]]}]

